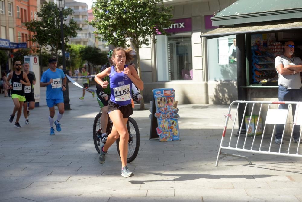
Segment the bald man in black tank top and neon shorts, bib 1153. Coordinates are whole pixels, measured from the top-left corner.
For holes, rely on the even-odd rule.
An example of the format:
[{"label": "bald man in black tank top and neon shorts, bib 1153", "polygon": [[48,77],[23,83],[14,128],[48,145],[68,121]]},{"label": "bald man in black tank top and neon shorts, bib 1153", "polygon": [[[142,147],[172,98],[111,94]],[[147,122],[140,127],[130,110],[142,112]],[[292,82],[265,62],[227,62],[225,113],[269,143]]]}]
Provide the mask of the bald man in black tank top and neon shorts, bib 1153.
[{"label": "bald man in black tank top and neon shorts, bib 1153", "polygon": [[[13,122],[15,114],[18,111],[15,126],[17,128],[21,128],[21,126],[19,124],[19,119],[22,114],[23,102],[25,101],[24,86],[30,86],[31,83],[28,80],[27,74],[25,72],[21,71],[21,62],[20,61],[15,61],[14,67],[16,70],[11,72],[8,75],[8,78],[6,81],[6,84],[8,84],[11,89],[11,98],[13,99],[13,102],[15,105],[13,113],[11,114],[11,117],[9,118],[9,122],[10,123]],[[9,80],[11,80],[11,84],[9,84]]]}]

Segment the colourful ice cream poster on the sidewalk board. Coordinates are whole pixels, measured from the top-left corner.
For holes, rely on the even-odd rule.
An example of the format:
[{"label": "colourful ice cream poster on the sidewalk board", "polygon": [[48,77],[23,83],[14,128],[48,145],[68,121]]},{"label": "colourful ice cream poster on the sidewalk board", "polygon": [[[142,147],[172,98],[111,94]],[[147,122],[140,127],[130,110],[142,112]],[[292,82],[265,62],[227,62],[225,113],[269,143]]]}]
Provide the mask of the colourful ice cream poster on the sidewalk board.
[{"label": "colourful ice cream poster on the sidewalk board", "polygon": [[178,127],[178,108],[175,106],[173,88],[153,89],[158,127],[156,132],[160,141],[180,140]]}]

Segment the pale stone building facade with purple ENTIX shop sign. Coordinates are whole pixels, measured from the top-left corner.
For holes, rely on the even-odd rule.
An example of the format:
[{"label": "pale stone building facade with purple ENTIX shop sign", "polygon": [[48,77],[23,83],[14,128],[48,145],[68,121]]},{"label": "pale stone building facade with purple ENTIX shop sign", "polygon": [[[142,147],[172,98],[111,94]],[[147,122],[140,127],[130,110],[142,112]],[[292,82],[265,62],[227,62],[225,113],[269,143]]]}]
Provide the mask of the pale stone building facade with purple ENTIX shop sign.
[{"label": "pale stone building facade with purple ENTIX shop sign", "polygon": [[216,28],[210,20],[214,12],[236,0],[163,2],[173,7],[173,23],[167,28],[171,35],[156,35],[156,44],[140,48],[145,100],[152,100],[150,92],[154,88],[174,88],[179,103],[226,104],[236,99],[236,96],[228,97],[230,91],[236,95],[236,76],[232,75],[236,74],[236,66],[233,65],[235,72],[228,66],[227,72],[212,72],[209,65],[212,56],[207,51],[210,47],[206,39],[200,38],[201,33]]}]

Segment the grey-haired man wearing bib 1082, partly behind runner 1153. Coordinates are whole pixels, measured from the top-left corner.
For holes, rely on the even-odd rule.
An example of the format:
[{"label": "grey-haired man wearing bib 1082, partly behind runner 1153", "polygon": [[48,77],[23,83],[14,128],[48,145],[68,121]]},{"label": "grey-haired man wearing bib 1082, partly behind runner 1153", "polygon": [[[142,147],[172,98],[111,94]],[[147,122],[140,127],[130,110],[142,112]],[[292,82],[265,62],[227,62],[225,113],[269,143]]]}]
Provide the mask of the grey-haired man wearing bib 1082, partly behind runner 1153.
[{"label": "grey-haired man wearing bib 1082, partly behind runner 1153", "polygon": [[[34,72],[29,71],[29,63],[23,63],[23,71],[27,74],[28,80],[31,83],[30,86],[24,87],[25,93],[25,101],[23,104],[23,114],[25,118],[25,124],[29,124],[28,116],[30,114],[29,110],[35,108],[35,95],[34,95],[34,85],[36,84],[36,75]],[[27,103],[29,103],[29,107],[27,108]]]}]

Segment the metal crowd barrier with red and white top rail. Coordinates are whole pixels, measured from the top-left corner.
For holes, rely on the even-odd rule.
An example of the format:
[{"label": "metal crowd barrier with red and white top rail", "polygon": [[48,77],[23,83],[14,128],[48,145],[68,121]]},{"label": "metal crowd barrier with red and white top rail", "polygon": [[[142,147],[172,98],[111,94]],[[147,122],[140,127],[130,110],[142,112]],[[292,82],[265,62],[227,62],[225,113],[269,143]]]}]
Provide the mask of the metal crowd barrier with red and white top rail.
[{"label": "metal crowd barrier with red and white top rail", "polygon": [[[233,105],[236,103],[237,103],[237,109],[236,109],[235,118],[233,120],[232,115],[231,115],[231,109],[232,109]],[[237,140],[234,137],[235,136],[234,133],[236,130],[236,129],[234,129],[234,126],[236,124],[236,118],[237,118],[238,109],[239,109],[240,104],[245,104],[243,114],[246,114],[248,104],[252,105],[252,110],[249,115],[249,121],[248,121],[249,123],[248,123],[247,129],[246,129],[246,135],[245,135],[244,141],[243,141],[244,136],[242,136],[240,134],[241,134],[241,131],[243,128],[243,124],[245,124],[245,116],[243,116],[243,118],[242,118]],[[259,105],[260,105],[259,114],[253,114],[255,104],[257,104],[257,107],[259,107]],[[288,104],[288,108],[287,109],[278,109],[278,107],[270,108],[271,105],[278,106],[279,104]],[[260,138],[256,138],[256,129],[259,127],[259,124],[262,124],[262,123],[259,123],[259,120],[260,120],[260,116],[263,117],[263,115],[262,115],[263,105],[268,105],[268,110],[267,110],[266,117],[265,117],[265,124],[264,124],[263,130],[262,130],[262,136],[260,139]],[[296,105],[296,111],[295,111],[295,116],[293,118],[293,121],[291,123],[289,123],[288,113],[289,113],[289,109],[290,109],[291,105]],[[249,136],[251,138],[248,139],[248,129],[251,125],[252,115],[258,115],[259,118],[257,121],[257,125],[255,126],[254,135]],[[290,116],[291,116],[291,114],[290,114]],[[230,136],[228,136],[227,130],[226,130],[229,119],[234,121]],[[266,127],[268,124],[274,125],[273,131],[271,134],[271,138],[270,138],[270,142],[269,142],[269,146],[264,143],[267,139],[267,138],[264,138],[264,136],[265,136],[265,130],[266,130]],[[280,146],[278,144],[275,144],[275,142],[274,142],[277,124],[284,124]],[[284,139],[285,128],[288,124],[292,124],[293,126],[291,129],[291,136],[290,136],[288,148],[286,148],[286,150],[284,150],[284,149],[282,149],[282,143],[283,143],[283,139]],[[249,160],[248,157],[243,156],[243,155],[231,154],[231,153],[223,153],[221,151],[222,149],[238,151],[238,152],[254,153],[254,154],[271,154],[271,155],[278,155],[278,156],[302,157],[302,155],[299,154],[300,141],[297,144],[297,149],[291,149],[291,146],[292,146],[291,143],[292,143],[295,125],[302,125],[302,103],[301,102],[238,101],[238,100],[233,101],[230,104],[228,114],[226,115],[226,122],[225,122],[225,126],[224,126],[223,133],[222,133],[222,138],[221,138],[220,147],[219,147],[217,160],[216,160],[216,166],[218,166],[219,160],[226,156],[244,158],[247,161],[249,161],[249,164],[252,164],[252,162]],[[236,134],[237,134],[237,132],[236,132]],[[226,140],[226,137],[227,138],[230,137],[228,144],[224,143],[224,141]],[[299,138],[301,139],[301,132],[300,132]],[[272,143],[273,143],[273,145],[272,145]],[[276,146],[278,146],[279,148]],[[283,146],[285,147],[287,145],[284,144]],[[272,151],[272,150],[276,150],[276,151]],[[222,156],[220,156],[220,155],[222,155]]]}]

